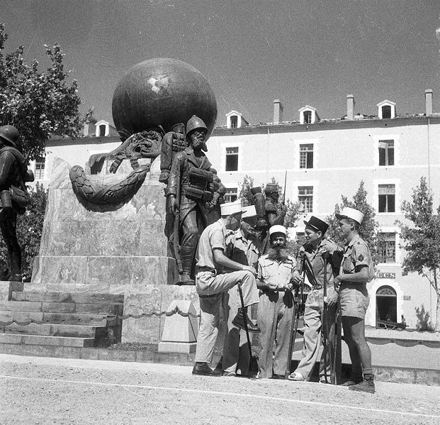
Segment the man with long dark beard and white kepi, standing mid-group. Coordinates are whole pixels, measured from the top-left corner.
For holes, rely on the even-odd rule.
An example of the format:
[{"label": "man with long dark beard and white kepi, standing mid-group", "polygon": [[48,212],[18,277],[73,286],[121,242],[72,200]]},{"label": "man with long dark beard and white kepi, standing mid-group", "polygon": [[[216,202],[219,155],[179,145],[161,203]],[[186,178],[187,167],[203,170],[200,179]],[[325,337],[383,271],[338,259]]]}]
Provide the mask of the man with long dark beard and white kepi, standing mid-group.
[{"label": "man with long dark beard and white kepi, standing mid-group", "polygon": [[[258,260],[259,377],[284,379],[288,358],[290,329],[293,325],[292,288],[295,260],[286,250],[286,228],[269,228],[269,253]],[[273,342],[276,343],[273,355]]]}]

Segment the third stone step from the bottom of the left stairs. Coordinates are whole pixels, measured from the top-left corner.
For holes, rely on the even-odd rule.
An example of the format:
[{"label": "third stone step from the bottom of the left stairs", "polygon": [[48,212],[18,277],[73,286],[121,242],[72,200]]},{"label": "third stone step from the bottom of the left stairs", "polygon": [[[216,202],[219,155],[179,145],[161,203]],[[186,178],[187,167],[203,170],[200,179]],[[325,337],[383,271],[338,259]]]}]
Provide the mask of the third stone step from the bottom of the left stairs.
[{"label": "third stone step from the bottom of the left stairs", "polygon": [[115,316],[107,314],[70,314],[42,311],[0,311],[1,322],[8,321],[27,322],[29,320],[45,321],[47,324],[75,324],[86,326],[116,326],[118,320]]}]

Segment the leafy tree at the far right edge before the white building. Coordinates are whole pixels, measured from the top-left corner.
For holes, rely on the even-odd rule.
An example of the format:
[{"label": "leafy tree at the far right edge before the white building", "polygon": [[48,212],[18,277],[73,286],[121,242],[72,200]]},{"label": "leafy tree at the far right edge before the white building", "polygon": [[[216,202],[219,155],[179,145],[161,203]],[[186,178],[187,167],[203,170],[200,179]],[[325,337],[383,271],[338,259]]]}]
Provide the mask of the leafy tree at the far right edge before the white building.
[{"label": "leafy tree at the far right edge before the white building", "polygon": [[436,292],[436,324],[440,331],[440,206],[434,214],[433,194],[425,177],[412,191],[412,202],[402,203],[402,213],[410,224],[397,221],[400,239],[406,254],[403,260],[403,273],[417,272],[425,277]]}]

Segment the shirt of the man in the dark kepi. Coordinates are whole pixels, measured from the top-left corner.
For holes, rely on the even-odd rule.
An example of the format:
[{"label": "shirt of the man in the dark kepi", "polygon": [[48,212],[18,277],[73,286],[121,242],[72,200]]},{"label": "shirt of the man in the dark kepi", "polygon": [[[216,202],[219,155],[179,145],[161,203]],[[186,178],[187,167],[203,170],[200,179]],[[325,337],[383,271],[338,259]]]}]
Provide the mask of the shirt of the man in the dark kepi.
[{"label": "shirt of the man in the dark kepi", "polygon": [[[305,246],[305,256],[310,261],[310,265],[312,265],[312,271],[313,275],[315,275],[316,283],[317,285],[323,286],[324,285],[324,258],[322,258],[322,254],[327,251],[331,256],[333,263],[339,264],[339,259],[335,258],[336,253],[338,252],[340,248],[336,243],[333,241],[329,241],[329,239],[322,239],[320,245],[316,248],[316,250],[313,250],[311,245]],[[340,258],[340,257],[339,257]],[[296,267],[298,270],[300,270],[301,267],[301,257],[298,255],[296,259]],[[308,272],[308,268],[306,268],[306,272]],[[307,273],[308,280],[312,284],[313,280],[309,277],[309,272]],[[327,285],[333,285],[333,270],[332,270],[332,263],[329,260],[327,260]]]}]

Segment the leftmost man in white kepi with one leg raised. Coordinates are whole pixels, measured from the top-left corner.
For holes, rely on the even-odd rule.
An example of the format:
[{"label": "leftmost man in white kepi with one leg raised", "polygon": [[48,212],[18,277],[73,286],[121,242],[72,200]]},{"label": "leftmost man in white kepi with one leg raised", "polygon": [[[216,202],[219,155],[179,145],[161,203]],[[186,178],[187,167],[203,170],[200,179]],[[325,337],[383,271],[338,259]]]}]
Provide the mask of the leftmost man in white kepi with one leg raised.
[{"label": "leftmost man in white kepi with one leg raised", "polygon": [[[239,228],[242,207],[239,202],[230,202],[220,208],[222,216],[205,228],[197,248],[196,289],[200,297],[201,318],[193,375],[220,375],[209,367],[209,363],[213,360],[218,336],[220,304],[232,287],[241,285],[244,299],[244,309],[239,307],[232,323],[244,329],[246,321],[249,332],[259,332],[259,327],[247,316],[247,307],[259,302],[255,269],[225,256],[228,231]],[[235,271],[225,272],[225,268]]]}]

